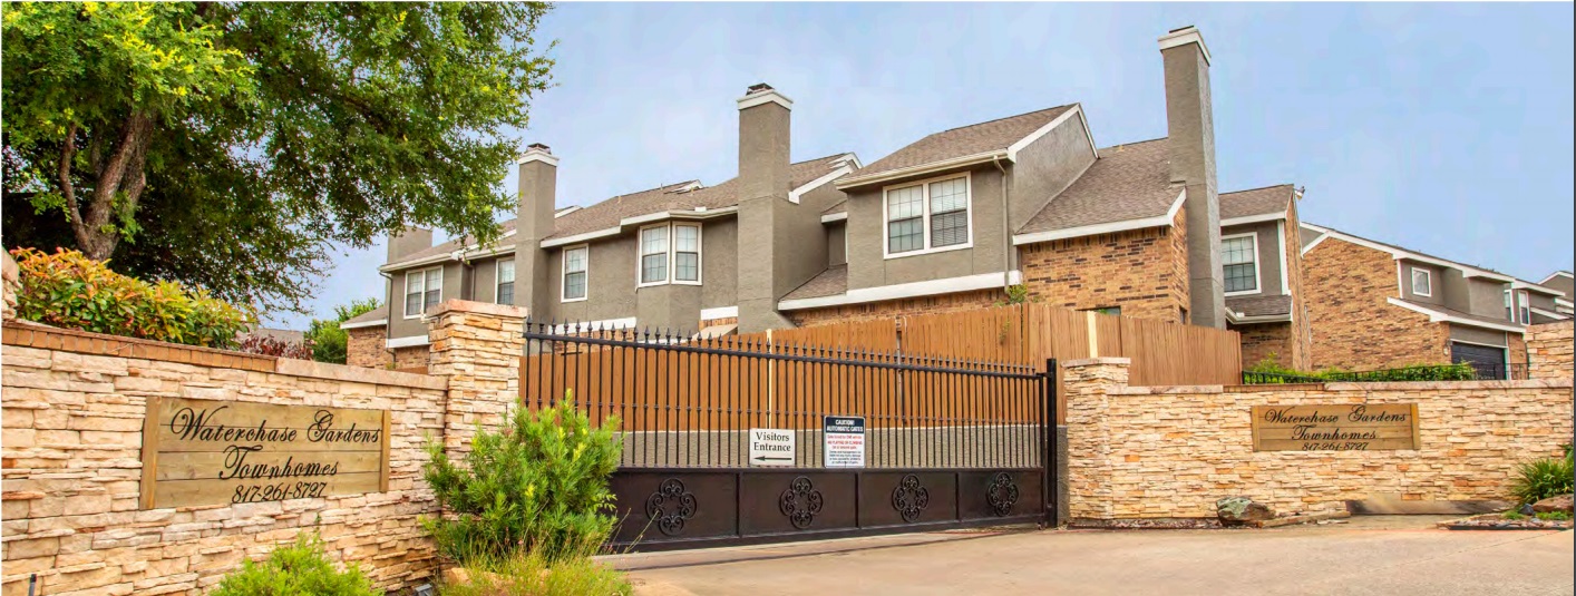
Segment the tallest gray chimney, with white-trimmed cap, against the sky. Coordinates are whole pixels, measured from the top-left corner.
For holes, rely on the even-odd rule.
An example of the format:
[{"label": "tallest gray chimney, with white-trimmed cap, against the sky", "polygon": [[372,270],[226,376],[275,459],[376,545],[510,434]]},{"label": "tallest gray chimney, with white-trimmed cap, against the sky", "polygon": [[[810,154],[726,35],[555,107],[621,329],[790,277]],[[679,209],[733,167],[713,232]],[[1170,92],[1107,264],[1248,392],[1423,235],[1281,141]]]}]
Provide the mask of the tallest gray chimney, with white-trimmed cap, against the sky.
[{"label": "tallest gray chimney, with white-trimmed cap, against the sky", "polygon": [[1171,161],[1171,184],[1187,189],[1182,207],[1187,213],[1188,318],[1198,326],[1225,328],[1209,47],[1198,28],[1188,25],[1160,36],[1160,55],[1166,68],[1166,158]]}]

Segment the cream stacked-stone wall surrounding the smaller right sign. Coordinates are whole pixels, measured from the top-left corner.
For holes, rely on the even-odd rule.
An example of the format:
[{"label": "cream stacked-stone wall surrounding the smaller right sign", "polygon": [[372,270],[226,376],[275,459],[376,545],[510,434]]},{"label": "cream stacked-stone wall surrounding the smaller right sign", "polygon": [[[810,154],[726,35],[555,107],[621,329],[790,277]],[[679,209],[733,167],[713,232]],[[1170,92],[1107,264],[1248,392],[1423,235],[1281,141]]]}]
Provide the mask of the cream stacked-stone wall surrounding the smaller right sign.
[{"label": "cream stacked-stone wall surrounding the smaller right sign", "polygon": [[[1125,358],[1065,364],[1072,517],[1215,517],[1243,495],[1277,512],[1347,500],[1505,500],[1518,462],[1571,437],[1571,380],[1127,386]],[[1420,449],[1253,451],[1254,405],[1417,404]]]}]

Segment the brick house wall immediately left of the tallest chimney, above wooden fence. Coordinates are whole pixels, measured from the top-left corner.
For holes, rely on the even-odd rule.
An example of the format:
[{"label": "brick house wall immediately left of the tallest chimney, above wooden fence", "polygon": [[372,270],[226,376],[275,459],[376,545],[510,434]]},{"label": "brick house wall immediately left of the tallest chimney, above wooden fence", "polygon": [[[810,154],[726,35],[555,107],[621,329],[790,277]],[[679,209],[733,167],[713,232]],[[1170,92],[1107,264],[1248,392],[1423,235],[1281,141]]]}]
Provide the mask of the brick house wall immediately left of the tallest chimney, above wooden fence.
[{"label": "brick house wall immediately left of the tallest chimney, above wooden fence", "polygon": [[1174,225],[1020,248],[1035,300],[1070,309],[1121,306],[1124,317],[1180,322],[1188,304],[1185,211]]}]

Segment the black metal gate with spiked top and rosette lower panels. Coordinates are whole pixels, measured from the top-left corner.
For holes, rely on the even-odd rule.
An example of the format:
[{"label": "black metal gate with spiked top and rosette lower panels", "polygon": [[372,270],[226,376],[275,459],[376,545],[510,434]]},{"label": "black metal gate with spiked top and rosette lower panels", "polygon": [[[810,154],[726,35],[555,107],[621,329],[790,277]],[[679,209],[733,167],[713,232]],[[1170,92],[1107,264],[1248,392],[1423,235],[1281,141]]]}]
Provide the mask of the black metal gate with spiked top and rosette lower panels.
[{"label": "black metal gate with spiked top and rosette lower panels", "polygon": [[526,323],[525,337],[526,407],[572,399],[594,423],[619,421],[615,547],[1054,519],[1054,361],[1034,369],[583,325]]}]

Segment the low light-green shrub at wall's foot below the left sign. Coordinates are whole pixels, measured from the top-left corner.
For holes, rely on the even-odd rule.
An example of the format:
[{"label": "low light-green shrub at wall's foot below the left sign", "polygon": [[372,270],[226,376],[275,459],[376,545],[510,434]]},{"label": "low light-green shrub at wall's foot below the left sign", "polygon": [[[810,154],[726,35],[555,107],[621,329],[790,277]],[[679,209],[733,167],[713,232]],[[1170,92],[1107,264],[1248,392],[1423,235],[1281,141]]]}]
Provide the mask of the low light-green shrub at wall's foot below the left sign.
[{"label": "low light-green shrub at wall's foot below the left sign", "polygon": [[301,533],[295,544],[268,553],[263,563],[244,561],[241,569],[224,577],[208,596],[380,596],[372,580],[351,563],[345,571],[323,555],[317,535]]}]

